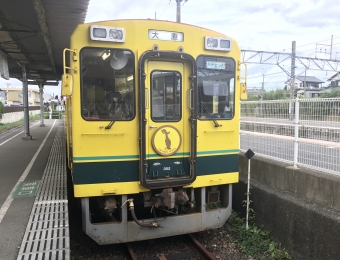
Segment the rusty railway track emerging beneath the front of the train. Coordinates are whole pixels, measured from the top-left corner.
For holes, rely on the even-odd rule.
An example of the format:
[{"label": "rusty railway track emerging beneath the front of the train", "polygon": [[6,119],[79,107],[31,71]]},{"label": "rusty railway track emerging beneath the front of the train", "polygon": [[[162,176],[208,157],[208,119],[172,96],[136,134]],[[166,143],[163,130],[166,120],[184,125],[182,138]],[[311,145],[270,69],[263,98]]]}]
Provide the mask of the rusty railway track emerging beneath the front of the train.
[{"label": "rusty railway track emerging beneath the front of the train", "polygon": [[[192,235],[181,236],[185,242],[183,244],[184,251],[176,252],[170,251],[167,253],[159,253],[157,256],[138,256],[136,250],[134,250],[135,243],[126,243],[127,251],[131,260],[171,260],[171,259],[203,259],[212,260],[216,259],[200,242],[198,242]],[[142,254],[141,254],[142,255]]]}]

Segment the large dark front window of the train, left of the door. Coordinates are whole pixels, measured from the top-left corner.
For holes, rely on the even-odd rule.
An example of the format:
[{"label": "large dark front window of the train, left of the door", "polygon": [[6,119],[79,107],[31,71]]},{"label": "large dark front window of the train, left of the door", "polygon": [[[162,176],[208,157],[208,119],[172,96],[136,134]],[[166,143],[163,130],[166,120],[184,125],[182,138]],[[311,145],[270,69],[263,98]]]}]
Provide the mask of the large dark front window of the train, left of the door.
[{"label": "large dark front window of the train, left of the door", "polygon": [[81,51],[81,109],[85,120],[132,120],[135,117],[134,56],[129,50],[84,48]]}]

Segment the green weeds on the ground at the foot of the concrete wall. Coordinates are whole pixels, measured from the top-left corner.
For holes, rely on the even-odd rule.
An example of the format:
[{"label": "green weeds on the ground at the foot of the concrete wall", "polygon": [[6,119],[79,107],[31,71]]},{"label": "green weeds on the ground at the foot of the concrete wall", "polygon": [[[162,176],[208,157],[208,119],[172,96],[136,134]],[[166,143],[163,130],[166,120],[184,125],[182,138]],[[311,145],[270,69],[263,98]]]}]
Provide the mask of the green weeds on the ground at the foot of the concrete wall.
[{"label": "green weeds on the ground at the foot of the concrete wall", "polygon": [[292,259],[289,253],[271,240],[268,231],[264,231],[255,225],[249,225],[246,229],[245,219],[233,212],[228,220],[228,230],[231,233],[229,242],[238,244],[239,249],[255,259]]}]

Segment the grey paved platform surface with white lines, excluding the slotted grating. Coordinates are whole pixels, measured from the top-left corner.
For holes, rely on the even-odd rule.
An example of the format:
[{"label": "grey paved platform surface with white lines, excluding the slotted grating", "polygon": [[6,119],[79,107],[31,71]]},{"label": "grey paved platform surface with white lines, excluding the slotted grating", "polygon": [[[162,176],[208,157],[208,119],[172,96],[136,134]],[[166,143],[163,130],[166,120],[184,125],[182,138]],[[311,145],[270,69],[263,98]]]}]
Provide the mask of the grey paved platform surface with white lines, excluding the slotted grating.
[{"label": "grey paved platform surface with white lines, excluding the slotted grating", "polygon": [[0,260],[17,259],[59,120],[30,122],[32,140],[23,127],[0,134]]}]

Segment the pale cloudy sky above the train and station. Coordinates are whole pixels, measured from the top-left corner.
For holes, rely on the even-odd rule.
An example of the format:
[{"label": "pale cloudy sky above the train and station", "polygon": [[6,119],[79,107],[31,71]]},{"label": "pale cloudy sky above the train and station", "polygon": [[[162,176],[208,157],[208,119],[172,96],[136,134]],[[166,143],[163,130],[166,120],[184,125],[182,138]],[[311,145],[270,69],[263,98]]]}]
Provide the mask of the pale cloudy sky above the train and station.
[{"label": "pale cloudy sky above the train and station", "polygon": [[[340,60],[338,0],[183,0],[181,22],[234,38],[242,50],[286,52],[296,41],[296,55]],[[176,0],[90,0],[85,23],[116,19],[176,21]],[[332,40],[333,38],[333,40]],[[332,50],[331,50],[332,49]],[[284,64],[290,71],[290,60]],[[315,76],[328,85],[334,71],[307,70],[296,62],[296,75]],[[276,65],[249,64],[248,88],[282,89],[287,74]],[[21,87],[0,79],[0,88]],[[49,93],[60,93],[48,86]],[[45,91],[45,92],[46,92]]]}]

